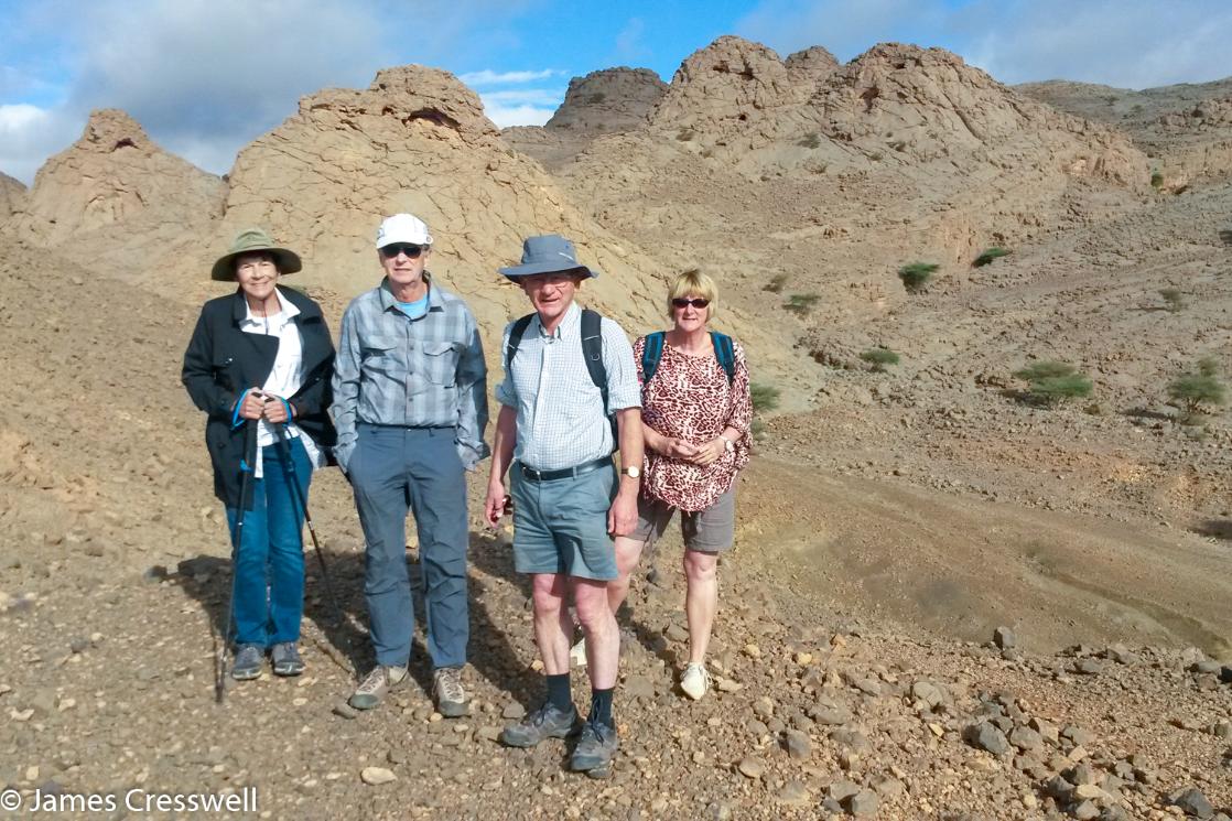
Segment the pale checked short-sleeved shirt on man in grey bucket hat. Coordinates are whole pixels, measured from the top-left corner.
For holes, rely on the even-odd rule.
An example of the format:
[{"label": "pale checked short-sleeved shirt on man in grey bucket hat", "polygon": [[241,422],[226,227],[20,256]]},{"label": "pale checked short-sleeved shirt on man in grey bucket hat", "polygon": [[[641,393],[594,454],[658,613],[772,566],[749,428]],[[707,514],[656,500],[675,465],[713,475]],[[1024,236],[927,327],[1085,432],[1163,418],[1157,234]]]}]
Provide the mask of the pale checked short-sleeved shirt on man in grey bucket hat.
[{"label": "pale checked short-sleeved shirt on man in grey bucket hat", "polygon": [[[509,330],[501,339],[501,362],[509,349]],[[642,407],[633,346],[621,327],[607,317],[600,324],[607,406],[611,410]],[[511,372],[496,387],[496,401],[517,410],[514,459],[537,471],[575,467],[612,452],[611,425],[604,399],[590,381],[582,354],[582,309],[569,306],[556,333],[543,333],[536,316],[522,334]]]}]

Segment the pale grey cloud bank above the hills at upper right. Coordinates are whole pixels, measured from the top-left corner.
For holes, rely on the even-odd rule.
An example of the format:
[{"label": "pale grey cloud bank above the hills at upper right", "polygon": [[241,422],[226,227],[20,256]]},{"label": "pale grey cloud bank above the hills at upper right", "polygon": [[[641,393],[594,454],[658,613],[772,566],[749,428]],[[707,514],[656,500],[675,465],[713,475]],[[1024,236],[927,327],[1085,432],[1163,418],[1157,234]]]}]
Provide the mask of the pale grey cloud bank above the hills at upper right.
[{"label": "pale grey cloud bank above the hills at upper right", "polygon": [[887,41],[940,46],[1003,83],[1148,88],[1232,75],[1226,0],[763,0],[737,32],[784,55],[808,46],[840,59]]}]

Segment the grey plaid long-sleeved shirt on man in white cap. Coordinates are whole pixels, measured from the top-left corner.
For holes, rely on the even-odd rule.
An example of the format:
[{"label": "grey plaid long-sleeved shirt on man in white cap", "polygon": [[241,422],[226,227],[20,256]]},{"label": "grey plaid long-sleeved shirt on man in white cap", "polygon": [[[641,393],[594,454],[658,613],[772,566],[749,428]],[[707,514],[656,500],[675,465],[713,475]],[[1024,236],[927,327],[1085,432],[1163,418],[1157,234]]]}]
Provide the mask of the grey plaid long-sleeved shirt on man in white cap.
[{"label": "grey plaid long-sleeved shirt on man in white cap", "polygon": [[428,313],[410,319],[398,309],[389,280],[382,280],[355,297],[342,314],[330,406],[338,464],[346,470],[361,422],[456,425],[462,465],[474,470],[490,452],[483,441],[487,376],[479,332],[461,298],[429,281]]}]

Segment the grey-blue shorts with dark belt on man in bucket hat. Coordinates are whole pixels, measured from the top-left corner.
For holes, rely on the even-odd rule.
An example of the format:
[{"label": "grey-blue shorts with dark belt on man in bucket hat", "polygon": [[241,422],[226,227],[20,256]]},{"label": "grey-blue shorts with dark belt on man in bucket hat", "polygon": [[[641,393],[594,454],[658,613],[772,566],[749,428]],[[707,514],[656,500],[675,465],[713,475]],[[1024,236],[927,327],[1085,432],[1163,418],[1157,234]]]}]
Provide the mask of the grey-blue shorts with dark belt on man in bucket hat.
[{"label": "grey-blue shorts with dark belt on man in bucket hat", "polygon": [[607,512],[616,496],[616,466],[577,477],[532,482],[514,465],[514,567],[519,573],[616,578],[616,545]]}]

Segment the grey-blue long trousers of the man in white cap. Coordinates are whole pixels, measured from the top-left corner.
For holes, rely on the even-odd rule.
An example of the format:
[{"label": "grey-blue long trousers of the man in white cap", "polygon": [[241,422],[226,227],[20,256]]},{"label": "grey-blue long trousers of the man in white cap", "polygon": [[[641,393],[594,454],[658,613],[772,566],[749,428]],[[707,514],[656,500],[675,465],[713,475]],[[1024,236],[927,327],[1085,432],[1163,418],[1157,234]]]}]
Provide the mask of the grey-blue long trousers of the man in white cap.
[{"label": "grey-blue long trousers of the man in white cap", "polygon": [[359,427],[347,478],[367,542],[363,593],[378,664],[400,667],[410,658],[415,611],[407,571],[408,509],[419,533],[432,666],[466,663],[469,534],[456,436],[453,428]]}]

